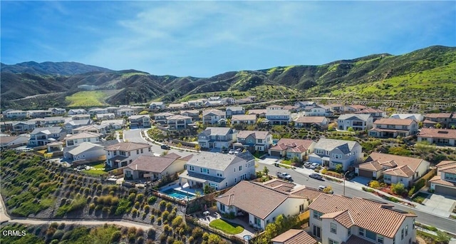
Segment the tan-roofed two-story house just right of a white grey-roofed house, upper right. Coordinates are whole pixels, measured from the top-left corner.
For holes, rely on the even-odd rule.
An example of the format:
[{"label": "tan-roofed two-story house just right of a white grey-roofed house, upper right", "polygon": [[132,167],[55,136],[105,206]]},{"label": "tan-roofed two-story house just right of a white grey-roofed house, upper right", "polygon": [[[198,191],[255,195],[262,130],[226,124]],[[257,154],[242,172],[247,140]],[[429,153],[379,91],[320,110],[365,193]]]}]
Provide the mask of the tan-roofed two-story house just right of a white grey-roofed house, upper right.
[{"label": "tan-roofed two-story house just right of a white grey-roofed house, upper right", "polygon": [[369,136],[378,138],[412,136],[418,132],[418,123],[408,118],[380,118],[373,123],[373,126]]}]

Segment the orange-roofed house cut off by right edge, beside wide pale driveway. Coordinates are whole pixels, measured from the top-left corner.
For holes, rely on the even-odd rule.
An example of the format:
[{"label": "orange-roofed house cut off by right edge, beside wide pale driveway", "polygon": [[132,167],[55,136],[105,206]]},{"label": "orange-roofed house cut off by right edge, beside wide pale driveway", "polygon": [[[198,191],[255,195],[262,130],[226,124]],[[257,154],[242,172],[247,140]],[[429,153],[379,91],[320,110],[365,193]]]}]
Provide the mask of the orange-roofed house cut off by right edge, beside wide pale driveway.
[{"label": "orange-roofed house cut off by right edge, beside wide pale driveway", "polygon": [[430,189],[435,193],[456,196],[456,161],[437,163],[437,176],[430,179]]}]

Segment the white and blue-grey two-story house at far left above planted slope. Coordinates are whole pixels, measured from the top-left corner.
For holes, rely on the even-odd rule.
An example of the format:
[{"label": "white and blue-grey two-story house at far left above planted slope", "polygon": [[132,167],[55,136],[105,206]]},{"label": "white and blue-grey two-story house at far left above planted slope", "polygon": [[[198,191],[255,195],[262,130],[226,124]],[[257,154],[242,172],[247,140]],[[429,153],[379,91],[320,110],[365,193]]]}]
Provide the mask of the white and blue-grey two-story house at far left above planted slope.
[{"label": "white and blue-grey two-story house at far left above planted slope", "polygon": [[41,127],[35,128],[30,134],[28,145],[46,146],[48,143],[62,141],[66,136],[66,131],[61,127]]}]

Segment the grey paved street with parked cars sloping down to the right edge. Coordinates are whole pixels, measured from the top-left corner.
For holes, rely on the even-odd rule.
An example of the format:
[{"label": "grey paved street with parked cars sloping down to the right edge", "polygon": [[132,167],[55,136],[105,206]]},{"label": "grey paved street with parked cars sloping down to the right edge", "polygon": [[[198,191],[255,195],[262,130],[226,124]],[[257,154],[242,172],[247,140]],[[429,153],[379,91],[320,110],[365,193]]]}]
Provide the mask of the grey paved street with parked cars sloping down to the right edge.
[{"label": "grey paved street with parked cars sloping down to the right edge", "polygon": [[[277,168],[274,165],[271,164],[265,164],[265,163],[258,163],[259,167],[257,168],[257,171],[262,171],[264,166],[266,166],[269,169],[269,174],[274,175],[276,174],[276,171],[281,171],[281,172],[286,172],[289,173],[294,181],[294,183],[300,184],[300,185],[307,185],[311,188],[318,188],[318,185],[331,185],[333,188],[334,194],[338,195],[343,195],[343,183],[336,183],[333,181],[318,181],[314,178],[309,178],[309,173],[312,173],[312,170],[309,169],[303,169],[303,168],[297,168],[296,171],[292,169],[286,169],[286,168]],[[359,183],[353,183],[353,182],[346,182],[346,196],[350,198],[358,197],[358,198],[371,198],[375,200],[381,200],[385,201],[384,199],[378,197],[377,195],[367,193],[363,190],[361,190],[361,187],[363,185]],[[435,226],[436,228],[439,228],[441,230],[446,230],[450,233],[455,233],[456,234],[456,220],[452,220],[450,218],[444,218],[440,217],[437,215],[432,215],[430,213],[425,213],[421,210],[418,210],[417,208],[410,208],[405,205],[397,204],[397,203],[392,203],[389,202],[391,205],[394,205],[394,207],[398,210],[403,210],[407,212],[413,212],[416,215],[418,215],[417,221],[419,223],[423,223],[425,225],[431,225]]]}]

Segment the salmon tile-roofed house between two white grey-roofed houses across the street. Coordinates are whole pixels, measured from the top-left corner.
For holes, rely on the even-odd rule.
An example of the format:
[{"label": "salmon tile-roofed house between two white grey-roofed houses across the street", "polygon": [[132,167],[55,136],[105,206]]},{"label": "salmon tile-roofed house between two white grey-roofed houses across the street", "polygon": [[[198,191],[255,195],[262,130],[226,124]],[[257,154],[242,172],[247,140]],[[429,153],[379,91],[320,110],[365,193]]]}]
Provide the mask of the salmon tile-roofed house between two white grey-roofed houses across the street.
[{"label": "salmon tile-roofed house between two white grey-roofed houses across the street", "polygon": [[311,153],[314,153],[315,141],[281,138],[276,146],[269,149],[270,156],[284,158],[299,158],[300,161],[307,159]]}]

